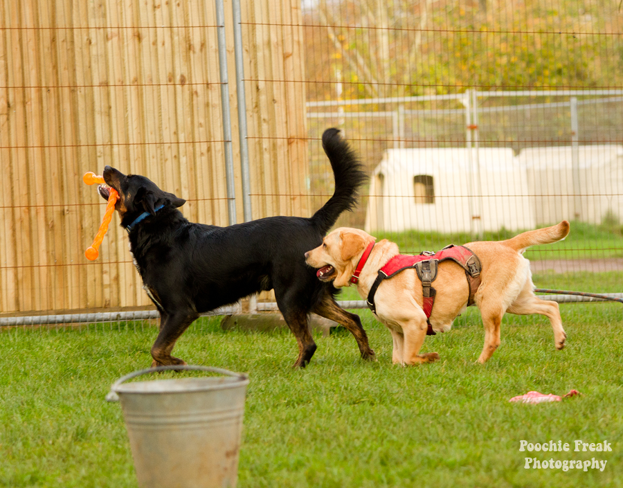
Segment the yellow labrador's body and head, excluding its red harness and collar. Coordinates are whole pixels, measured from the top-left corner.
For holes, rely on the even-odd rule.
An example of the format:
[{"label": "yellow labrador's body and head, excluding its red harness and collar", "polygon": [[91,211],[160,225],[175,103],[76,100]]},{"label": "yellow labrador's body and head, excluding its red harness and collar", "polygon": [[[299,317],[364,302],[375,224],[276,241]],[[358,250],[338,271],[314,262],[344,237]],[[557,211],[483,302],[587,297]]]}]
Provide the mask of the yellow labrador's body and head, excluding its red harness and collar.
[{"label": "yellow labrador's body and head, excluding its red harness and collar", "polygon": [[[439,262],[437,277],[433,281],[437,293],[428,320],[422,308],[422,281],[415,269],[405,269],[382,280],[374,295],[375,315],[392,334],[392,361],[411,365],[439,359],[436,352],[419,354],[429,324],[434,332],[449,331],[453,320],[466,309],[470,299],[480,309],[485,326],[485,346],[478,358],[479,363],[485,363],[500,345],[500,324],[507,311],[548,317],[554,329],[554,344],[557,349],[562,349],[566,334],[558,304],[534,295],[530,262],[523,257],[523,251],[536,244],[563,240],[568,233],[569,223],[563,221],[505,241],[465,244],[464,247],[480,260],[480,285],[470,296],[466,270],[452,261]],[[316,274],[320,280],[333,281],[335,287],[347,287],[351,280],[358,281],[357,291],[367,299],[379,269],[399,255],[397,244],[385,239],[372,244],[374,241],[374,237],[359,229],[338,228],[324,238],[322,245],[305,253],[305,260],[309,266],[318,269]],[[364,253],[368,252],[362,260]],[[360,273],[358,280],[353,276],[356,271]]]}]

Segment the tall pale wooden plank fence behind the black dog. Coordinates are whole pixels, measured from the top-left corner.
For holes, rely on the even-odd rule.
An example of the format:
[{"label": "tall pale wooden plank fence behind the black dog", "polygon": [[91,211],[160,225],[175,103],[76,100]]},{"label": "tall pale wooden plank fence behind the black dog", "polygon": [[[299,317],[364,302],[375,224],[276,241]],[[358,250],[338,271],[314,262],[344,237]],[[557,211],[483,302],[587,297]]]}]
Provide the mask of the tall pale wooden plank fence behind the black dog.
[{"label": "tall pale wooden plank fence behind the black dog", "polygon": [[[242,0],[253,218],[309,215],[300,24],[300,0]],[[150,305],[117,216],[84,257],[105,210],[84,172],[144,174],[227,224],[218,66],[214,2],[0,0],[0,312]]]}]

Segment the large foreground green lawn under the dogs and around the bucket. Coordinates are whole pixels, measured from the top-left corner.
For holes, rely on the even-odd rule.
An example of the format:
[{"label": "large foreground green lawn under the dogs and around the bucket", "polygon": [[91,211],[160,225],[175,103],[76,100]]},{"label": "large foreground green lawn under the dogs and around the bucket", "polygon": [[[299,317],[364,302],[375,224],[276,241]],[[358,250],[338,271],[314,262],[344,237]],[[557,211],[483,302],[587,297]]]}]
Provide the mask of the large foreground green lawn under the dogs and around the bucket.
[{"label": "large foreground green lawn under the dogs and around the bucket", "polygon": [[[289,332],[222,332],[203,319],[175,353],[189,363],[248,372],[239,486],[622,486],[623,318],[620,304],[563,305],[568,347],[547,320],[507,315],[502,346],[476,365],[480,316],[469,309],[447,334],[426,338],[441,360],[391,364],[387,330],[359,311],[378,361],[361,361],[350,334],[316,336],[305,370],[292,370]],[[0,486],[136,487],[111,383],[150,364],[154,327],[0,333]],[[529,390],[581,397],[511,404]],[[611,442],[613,452],[528,453],[607,460],[603,472],[524,469],[520,440]]]}]

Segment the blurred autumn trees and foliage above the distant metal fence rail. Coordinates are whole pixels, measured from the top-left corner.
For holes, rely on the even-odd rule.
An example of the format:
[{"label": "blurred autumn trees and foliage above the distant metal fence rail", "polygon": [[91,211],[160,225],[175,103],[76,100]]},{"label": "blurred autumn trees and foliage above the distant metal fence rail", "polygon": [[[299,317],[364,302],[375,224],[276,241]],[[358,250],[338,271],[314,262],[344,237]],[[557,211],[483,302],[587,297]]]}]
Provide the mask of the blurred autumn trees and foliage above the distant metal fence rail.
[{"label": "blurred autumn trees and foliage above the distant metal fence rail", "polygon": [[[621,87],[620,1],[320,0],[304,10],[310,100]],[[329,27],[324,27],[328,25]],[[338,72],[338,73],[337,73]]]}]

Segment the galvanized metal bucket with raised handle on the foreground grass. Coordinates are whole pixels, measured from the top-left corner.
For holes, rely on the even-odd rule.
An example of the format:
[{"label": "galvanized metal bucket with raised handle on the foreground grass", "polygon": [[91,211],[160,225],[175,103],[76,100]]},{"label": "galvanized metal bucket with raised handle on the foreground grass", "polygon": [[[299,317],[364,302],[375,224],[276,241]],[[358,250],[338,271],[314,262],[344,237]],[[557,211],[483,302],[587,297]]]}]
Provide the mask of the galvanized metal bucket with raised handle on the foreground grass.
[{"label": "galvanized metal bucket with raised handle on the foreground grass", "polygon": [[[125,381],[164,370],[220,377]],[[120,399],[141,488],[235,487],[249,378],[207,366],[165,366],[118,379],[107,395]]]}]

